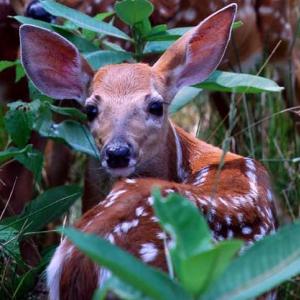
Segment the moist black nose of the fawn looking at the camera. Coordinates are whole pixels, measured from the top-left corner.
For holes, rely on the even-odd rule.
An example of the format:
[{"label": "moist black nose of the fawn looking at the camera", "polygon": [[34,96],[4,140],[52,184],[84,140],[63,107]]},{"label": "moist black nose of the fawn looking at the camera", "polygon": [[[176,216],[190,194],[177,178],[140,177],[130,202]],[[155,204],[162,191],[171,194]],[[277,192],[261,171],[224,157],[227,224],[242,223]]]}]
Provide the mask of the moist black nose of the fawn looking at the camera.
[{"label": "moist black nose of the fawn looking at the camera", "polygon": [[110,168],[126,168],[129,164],[131,148],[128,144],[112,144],[107,146],[105,154]]}]

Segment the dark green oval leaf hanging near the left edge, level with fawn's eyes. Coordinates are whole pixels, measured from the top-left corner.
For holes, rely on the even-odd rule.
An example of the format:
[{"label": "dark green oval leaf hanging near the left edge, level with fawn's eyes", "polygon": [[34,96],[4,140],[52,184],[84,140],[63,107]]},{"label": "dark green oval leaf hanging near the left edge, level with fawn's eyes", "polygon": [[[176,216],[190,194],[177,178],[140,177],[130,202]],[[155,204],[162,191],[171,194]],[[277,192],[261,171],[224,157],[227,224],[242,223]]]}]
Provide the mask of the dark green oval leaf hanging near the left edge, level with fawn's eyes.
[{"label": "dark green oval leaf hanging near the left edge, level with fawn's eyes", "polygon": [[24,147],[31,134],[34,116],[31,111],[10,110],[5,115],[5,128],[18,147]]}]

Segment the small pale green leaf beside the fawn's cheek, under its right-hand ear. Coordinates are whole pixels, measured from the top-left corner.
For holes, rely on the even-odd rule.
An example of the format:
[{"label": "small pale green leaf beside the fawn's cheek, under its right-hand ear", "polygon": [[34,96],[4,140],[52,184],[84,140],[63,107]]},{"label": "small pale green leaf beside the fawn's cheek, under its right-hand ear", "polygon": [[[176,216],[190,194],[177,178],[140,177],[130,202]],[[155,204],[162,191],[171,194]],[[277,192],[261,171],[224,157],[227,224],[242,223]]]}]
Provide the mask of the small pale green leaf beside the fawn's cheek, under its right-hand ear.
[{"label": "small pale green leaf beside the fawn's cheek, under its right-hand ear", "polygon": [[199,93],[201,93],[201,91],[201,89],[191,86],[181,89],[172,100],[169,106],[169,113],[173,114],[182,109],[185,105],[192,102],[199,95]]}]

